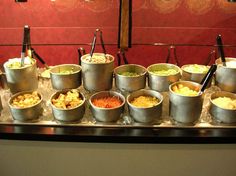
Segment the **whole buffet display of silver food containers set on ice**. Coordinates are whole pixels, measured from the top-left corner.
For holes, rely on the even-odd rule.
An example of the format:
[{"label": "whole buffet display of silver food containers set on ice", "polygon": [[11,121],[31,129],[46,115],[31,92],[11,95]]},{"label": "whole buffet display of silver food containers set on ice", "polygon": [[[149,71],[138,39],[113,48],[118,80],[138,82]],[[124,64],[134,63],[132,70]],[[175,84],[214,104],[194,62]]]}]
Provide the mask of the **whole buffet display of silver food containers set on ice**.
[{"label": "whole buffet display of silver food containers set on ice", "polygon": [[[97,32],[103,53],[94,53]],[[0,124],[236,128],[236,58],[221,53],[211,67],[156,63],[145,68],[126,61],[114,68],[115,57],[106,53],[96,30],[81,65],[39,69],[30,45],[33,52],[25,57],[26,46],[21,58],[4,63]]]}]

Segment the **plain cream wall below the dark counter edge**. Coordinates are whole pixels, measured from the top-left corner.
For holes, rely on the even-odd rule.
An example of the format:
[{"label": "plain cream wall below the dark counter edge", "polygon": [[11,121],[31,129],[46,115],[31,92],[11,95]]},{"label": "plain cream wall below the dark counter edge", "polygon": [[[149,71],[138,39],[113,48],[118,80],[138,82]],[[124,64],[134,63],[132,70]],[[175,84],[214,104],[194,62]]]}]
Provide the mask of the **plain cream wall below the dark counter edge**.
[{"label": "plain cream wall below the dark counter edge", "polygon": [[236,145],[0,140],[0,176],[235,176]]}]

